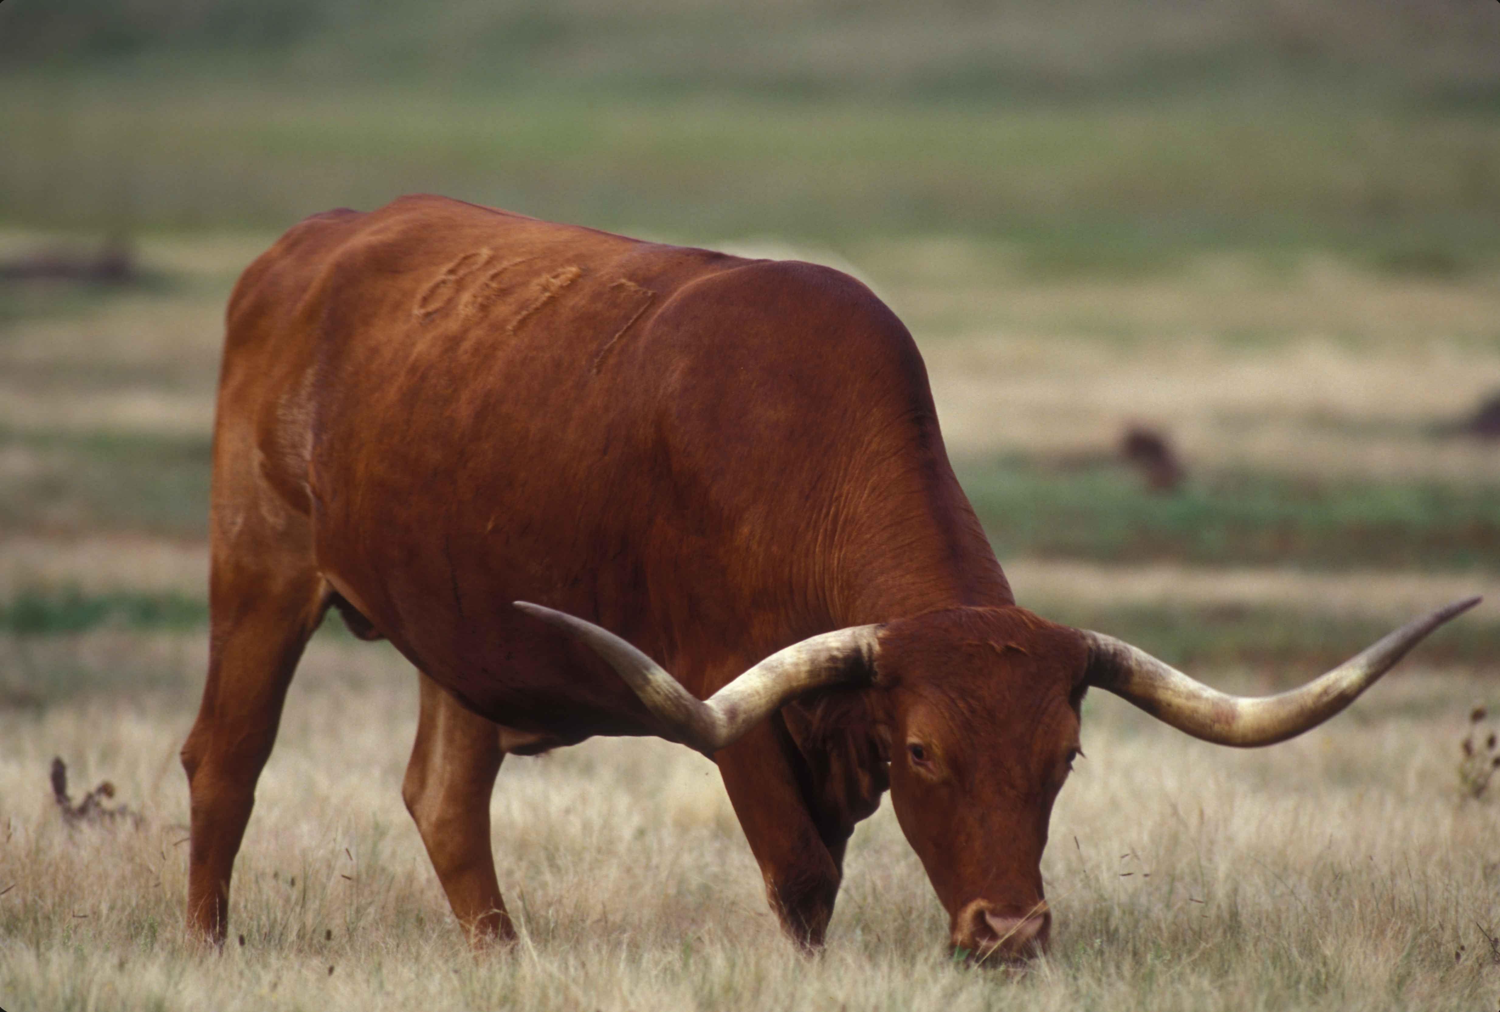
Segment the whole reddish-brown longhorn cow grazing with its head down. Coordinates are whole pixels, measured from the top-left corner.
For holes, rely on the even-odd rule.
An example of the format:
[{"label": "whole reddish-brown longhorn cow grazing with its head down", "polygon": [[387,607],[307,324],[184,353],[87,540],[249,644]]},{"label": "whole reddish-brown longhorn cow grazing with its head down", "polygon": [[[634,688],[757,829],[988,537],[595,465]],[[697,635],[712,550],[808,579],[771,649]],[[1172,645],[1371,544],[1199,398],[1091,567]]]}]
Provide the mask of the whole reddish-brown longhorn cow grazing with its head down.
[{"label": "whole reddish-brown longhorn cow grazing with its head down", "polygon": [[219,942],[330,606],[422,672],[404,795],[476,943],[513,934],[489,849],[504,754],[660,735],[718,763],[800,943],[890,790],[951,943],[1011,958],[1047,942],[1040,861],[1089,685],[1269,744],[1472,604],[1302,690],[1221,696],[1016,606],[916,346],[858,282],[432,196],[320,214],[244,271],[210,537],[183,766],[188,922]]}]

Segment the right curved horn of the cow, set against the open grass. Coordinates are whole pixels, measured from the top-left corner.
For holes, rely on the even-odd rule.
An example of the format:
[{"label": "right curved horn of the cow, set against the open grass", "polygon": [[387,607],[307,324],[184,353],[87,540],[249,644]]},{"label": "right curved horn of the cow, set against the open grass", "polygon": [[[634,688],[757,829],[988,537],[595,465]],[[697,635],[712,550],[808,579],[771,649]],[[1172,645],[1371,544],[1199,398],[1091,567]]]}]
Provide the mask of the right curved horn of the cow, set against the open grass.
[{"label": "right curved horn of the cow, set against the open grass", "polygon": [[1472,597],[1440,607],[1326,675],[1278,696],[1226,696],[1124,640],[1082,630],[1089,643],[1086,679],[1206,742],[1239,748],[1275,745],[1317,727],[1348,706],[1422,637],[1480,600]]}]

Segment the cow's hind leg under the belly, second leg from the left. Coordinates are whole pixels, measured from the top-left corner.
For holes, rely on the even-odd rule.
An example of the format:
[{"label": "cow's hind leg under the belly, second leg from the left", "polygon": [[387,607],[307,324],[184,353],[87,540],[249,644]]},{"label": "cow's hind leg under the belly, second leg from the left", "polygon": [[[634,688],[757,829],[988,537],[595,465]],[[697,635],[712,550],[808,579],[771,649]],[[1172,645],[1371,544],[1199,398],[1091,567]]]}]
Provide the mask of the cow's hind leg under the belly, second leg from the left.
[{"label": "cow's hind leg under the belly, second leg from the left", "polygon": [[402,796],[417,822],[448,906],[476,949],[510,942],[489,844],[489,796],[504,751],[500,729],[464,709],[426,675]]}]

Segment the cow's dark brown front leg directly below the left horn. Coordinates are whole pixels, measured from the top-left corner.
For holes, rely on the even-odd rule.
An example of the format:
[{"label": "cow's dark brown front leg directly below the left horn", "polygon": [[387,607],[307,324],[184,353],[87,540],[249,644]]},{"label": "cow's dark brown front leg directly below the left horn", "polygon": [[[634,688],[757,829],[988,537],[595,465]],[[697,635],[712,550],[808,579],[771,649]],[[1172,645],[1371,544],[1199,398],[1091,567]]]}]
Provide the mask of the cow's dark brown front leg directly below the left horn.
[{"label": "cow's dark brown front leg directly below the left horn", "polygon": [[782,718],[762,721],[714,762],[782,928],[804,949],[820,948],[843,877],[843,844],[836,855],[819,834]]}]

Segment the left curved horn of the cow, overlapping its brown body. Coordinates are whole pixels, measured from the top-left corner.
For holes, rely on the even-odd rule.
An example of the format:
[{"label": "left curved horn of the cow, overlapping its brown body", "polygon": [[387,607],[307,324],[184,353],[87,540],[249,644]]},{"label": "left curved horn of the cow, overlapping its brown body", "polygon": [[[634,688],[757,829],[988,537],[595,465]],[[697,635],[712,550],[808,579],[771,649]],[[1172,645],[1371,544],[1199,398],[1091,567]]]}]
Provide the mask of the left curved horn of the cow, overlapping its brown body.
[{"label": "left curved horn of the cow, overlapping its brown body", "polygon": [[568,633],[609,663],[678,739],[705,756],[732,745],[783,703],[810,690],[860,681],[874,670],[879,625],[850,625],[777,651],[706,700],[609,630],[540,604],[514,606]]}]

